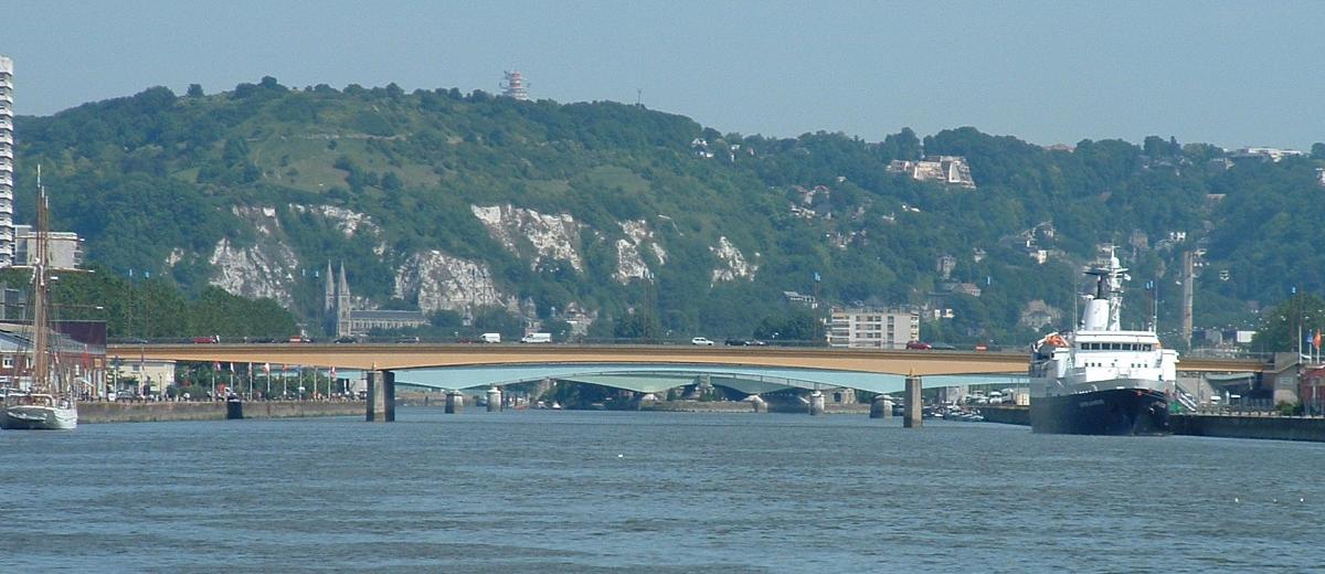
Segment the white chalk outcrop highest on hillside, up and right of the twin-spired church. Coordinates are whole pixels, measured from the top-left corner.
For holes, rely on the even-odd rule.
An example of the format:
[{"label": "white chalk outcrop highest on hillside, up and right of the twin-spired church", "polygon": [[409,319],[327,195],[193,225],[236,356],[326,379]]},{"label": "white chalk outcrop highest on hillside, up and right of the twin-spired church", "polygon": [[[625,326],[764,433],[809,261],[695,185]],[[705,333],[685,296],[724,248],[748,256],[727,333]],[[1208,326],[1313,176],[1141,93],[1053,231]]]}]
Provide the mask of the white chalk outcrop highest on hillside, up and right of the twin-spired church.
[{"label": "white chalk outcrop highest on hillside, up and right of the twin-spired church", "polygon": [[518,239],[534,245],[538,253],[530,269],[538,269],[549,258],[564,260],[578,270],[584,270],[576,245],[580,225],[570,213],[547,215],[533,209],[506,205],[470,205],[474,216],[488,228],[488,233],[511,253],[519,255]]}]

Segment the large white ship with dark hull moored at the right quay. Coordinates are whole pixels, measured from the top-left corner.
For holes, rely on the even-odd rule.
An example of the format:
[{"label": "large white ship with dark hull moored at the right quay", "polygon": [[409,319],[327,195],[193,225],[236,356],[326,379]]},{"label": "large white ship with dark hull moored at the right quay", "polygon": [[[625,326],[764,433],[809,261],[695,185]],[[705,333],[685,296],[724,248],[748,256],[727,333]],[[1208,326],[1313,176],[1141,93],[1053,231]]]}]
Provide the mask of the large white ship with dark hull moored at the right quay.
[{"label": "large white ship with dark hull moored at the right quay", "polygon": [[1126,270],[1109,249],[1094,277],[1080,329],[1031,349],[1031,430],[1076,435],[1166,435],[1178,353],[1154,330],[1120,323]]}]

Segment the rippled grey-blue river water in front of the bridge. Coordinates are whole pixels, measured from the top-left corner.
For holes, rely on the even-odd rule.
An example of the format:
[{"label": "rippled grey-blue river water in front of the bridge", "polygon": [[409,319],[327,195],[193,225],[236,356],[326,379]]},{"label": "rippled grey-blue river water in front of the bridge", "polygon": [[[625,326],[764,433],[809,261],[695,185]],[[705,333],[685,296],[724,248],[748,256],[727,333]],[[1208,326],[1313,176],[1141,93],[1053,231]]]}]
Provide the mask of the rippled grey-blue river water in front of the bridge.
[{"label": "rippled grey-blue river water in front of the bridge", "polygon": [[0,432],[0,571],[1309,571],[1325,444],[401,408]]}]

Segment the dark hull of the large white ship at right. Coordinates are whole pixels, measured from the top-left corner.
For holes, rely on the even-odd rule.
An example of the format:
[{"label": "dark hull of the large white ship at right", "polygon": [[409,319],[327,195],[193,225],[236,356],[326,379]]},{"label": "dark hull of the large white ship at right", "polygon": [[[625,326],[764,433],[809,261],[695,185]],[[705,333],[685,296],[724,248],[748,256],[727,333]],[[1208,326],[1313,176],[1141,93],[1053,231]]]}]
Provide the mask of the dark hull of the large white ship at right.
[{"label": "dark hull of the large white ship at right", "polygon": [[1153,388],[1032,396],[1031,431],[1060,435],[1169,435],[1169,398]]}]

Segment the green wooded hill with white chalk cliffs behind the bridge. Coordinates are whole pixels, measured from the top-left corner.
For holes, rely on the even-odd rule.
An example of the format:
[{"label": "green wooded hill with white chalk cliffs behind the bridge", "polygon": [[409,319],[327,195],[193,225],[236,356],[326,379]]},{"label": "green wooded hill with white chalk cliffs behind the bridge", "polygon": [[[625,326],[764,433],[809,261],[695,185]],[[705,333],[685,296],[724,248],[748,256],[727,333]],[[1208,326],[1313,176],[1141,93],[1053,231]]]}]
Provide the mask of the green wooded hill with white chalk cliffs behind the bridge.
[{"label": "green wooded hill with white chalk cliffs behind the bridge", "polygon": [[[1023,322],[1032,301],[1048,327],[1071,322],[1077,266],[1101,243],[1138,280],[1132,325],[1150,280],[1177,323],[1183,251],[1203,252],[1200,325],[1249,325],[1291,286],[1325,289],[1316,160],[1231,162],[1171,138],[776,139],[615,102],[274,78],[20,117],[16,138],[17,219],[40,163],[53,224],[109,273],[268,297],[310,330],[329,261],[358,306],[419,306],[448,334],[566,319],[600,337],[791,333],[808,312],[783,292],[818,292],[950,308],[926,337],[1020,345],[1045,329]],[[889,170],[922,155],[963,156],[975,188]]]}]

